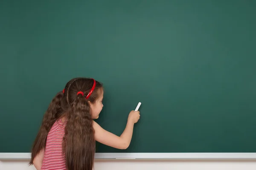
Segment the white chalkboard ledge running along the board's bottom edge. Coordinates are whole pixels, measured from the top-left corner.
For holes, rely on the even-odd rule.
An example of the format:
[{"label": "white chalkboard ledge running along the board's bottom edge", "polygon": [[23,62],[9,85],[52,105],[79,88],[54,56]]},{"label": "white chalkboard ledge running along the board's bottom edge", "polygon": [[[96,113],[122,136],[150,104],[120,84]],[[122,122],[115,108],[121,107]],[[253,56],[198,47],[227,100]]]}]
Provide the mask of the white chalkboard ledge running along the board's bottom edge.
[{"label": "white chalkboard ledge running along the board's bottom edge", "polygon": [[[29,160],[30,153],[0,153],[0,160]],[[256,153],[96,153],[97,160],[256,160]]]}]

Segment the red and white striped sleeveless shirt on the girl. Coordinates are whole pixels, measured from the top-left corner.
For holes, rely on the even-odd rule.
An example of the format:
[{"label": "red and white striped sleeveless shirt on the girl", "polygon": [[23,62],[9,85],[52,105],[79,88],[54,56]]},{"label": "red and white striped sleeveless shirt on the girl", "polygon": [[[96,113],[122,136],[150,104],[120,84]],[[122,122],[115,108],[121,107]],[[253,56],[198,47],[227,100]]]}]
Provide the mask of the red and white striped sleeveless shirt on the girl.
[{"label": "red and white striped sleeveless shirt on the girl", "polygon": [[62,139],[66,122],[58,119],[47,135],[44,160],[41,170],[67,170],[65,156],[62,154]]}]

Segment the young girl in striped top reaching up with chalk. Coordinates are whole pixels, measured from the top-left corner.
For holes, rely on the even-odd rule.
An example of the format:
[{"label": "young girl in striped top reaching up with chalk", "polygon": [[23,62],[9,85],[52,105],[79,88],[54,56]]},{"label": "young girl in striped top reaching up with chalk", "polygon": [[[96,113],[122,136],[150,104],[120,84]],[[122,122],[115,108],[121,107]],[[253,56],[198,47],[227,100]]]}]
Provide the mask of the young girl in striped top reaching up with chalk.
[{"label": "young girl in striped top reaching up with chalk", "polygon": [[92,170],[95,141],[126,149],[140,112],[131,111],[124,132],[116,136],[93,121],[102,110],[102,99],[102,84],[94,79],[67,82],[44,114],[30,164],[37,170]]}]

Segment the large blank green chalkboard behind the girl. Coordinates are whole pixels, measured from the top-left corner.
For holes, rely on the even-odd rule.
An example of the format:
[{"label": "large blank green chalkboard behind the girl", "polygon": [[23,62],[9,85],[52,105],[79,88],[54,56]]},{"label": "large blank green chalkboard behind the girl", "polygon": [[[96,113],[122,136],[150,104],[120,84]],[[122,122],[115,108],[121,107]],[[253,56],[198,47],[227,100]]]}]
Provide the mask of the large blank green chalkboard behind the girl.
[{"label": "large blank green chalkboard behind the girl", "polygon": [[31,151],[68,80],[105,87],[97,152],[256,152],[256,1],[2,0],[0,152]]}]

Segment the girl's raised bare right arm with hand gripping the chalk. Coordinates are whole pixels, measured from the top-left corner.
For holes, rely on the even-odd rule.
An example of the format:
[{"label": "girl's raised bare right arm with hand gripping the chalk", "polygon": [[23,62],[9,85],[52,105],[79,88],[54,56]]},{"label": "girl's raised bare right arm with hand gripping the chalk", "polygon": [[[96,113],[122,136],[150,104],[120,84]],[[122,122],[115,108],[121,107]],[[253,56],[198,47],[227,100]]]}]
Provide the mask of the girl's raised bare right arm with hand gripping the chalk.
[{"label": "girl's raised bare right arm with hand gripping the chalk", "polygon": [[139,111],[131,111],[128,117],[128,121],[124,132],[121,136],[116,136],[115,134],[104,130],[99,124],[93,121],[93,128],[95,130],[95,140],[111,146],[117,149],[126,149],[131,142],[131,137],[133,133],[134,123],[137,123],[140,119]]}]

